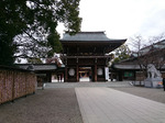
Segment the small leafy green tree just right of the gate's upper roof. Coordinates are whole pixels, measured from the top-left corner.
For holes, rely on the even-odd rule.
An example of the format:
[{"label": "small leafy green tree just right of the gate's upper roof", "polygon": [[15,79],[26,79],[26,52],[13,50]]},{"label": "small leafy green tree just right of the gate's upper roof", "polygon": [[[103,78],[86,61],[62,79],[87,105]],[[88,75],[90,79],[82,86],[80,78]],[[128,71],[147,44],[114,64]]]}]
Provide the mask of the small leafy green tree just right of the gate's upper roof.
[{"label": "small leafy green tree just right of the gate's upper roof", "polygon": [[114,51],[113,63],[119,63],[121,60],[128,59],[131,55],[131,51],[128,45],[123,44]]}]

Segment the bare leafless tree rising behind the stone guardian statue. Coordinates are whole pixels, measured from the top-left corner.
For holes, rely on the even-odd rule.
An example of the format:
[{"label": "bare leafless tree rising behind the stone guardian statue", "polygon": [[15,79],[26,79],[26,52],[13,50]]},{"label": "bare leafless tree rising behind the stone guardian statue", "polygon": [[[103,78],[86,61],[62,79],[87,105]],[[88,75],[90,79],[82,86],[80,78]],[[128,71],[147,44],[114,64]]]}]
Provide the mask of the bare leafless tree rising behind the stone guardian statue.
[{"label": "bare leafless tree rising behind the stone guardian statue", "polygon": [[[146,77],[147,65],[153,64],[157,69],[161,69],[165,64],[165,35],[160,34],[144,40],[141,35],[135,35],[131,38],[136,64],[140,65],[141,71]],[[142,43],[146,44],[142,44]]]}]

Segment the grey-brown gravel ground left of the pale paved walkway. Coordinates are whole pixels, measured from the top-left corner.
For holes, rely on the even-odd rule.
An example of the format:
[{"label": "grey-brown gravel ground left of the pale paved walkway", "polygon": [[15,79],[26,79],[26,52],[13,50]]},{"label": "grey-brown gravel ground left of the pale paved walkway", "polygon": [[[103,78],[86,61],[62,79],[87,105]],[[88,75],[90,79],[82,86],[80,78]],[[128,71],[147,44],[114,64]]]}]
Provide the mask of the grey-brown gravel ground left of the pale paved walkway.
[{"label": "grey-brown gravel ground left of the pale paved walkway", "polygon": [[75,89],[46,89],[1,104],[0,123],[82,123],[82,119]]}]

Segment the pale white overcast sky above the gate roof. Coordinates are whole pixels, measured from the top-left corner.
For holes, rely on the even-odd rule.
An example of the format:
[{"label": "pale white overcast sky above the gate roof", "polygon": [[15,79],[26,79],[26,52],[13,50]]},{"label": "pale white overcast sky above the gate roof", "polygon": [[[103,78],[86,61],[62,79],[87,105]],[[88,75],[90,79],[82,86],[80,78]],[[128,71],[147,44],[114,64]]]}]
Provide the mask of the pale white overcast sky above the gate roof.
[{"label": "pale white overcast sky above the gate roof", "polygon": [[165,0],[80,0],[79,9],[81,31],[106,31],[109,38],[165,32]]}]

